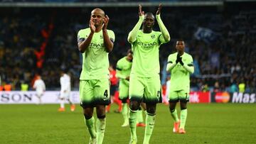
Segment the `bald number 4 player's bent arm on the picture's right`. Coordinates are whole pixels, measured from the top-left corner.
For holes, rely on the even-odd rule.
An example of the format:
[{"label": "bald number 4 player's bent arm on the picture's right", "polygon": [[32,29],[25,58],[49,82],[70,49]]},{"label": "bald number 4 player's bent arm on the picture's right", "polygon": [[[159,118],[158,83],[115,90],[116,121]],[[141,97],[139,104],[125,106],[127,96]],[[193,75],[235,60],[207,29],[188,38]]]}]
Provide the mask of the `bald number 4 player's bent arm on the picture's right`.
[{"label": "bald number 4 player's bent arm on the picture's right", "polygon": [[107,52],[111,52],[114,47],[114,39],[110,38],[110,36],[107,34],[107,24],[110,21],[110,18],[106,15],[103,20],[104,20],[104,25],[102,27],[102,33],[103,33],[104,45]]}]

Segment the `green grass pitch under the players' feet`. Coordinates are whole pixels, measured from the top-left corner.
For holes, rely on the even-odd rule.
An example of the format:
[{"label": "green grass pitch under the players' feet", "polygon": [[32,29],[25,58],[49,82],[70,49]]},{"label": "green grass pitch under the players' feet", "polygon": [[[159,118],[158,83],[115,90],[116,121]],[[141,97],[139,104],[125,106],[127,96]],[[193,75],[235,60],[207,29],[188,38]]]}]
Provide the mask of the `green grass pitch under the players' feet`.
[{"label": "green grass pitch under the players' feet", "polygon": [[[69,108],[69,106],[68,106]],[[88,143],[82,109],[59,113],[58,105],[0,105],[0,143]],[[116,106],[112,106],[112,110]],[[255,104],[188,104],[186,134],[172,133],[168,106],[157,106],[151,144],[256,143]],[[104,143],[129,143],[120,113],[107,113]],[[137,128],[142,143],[144,128]]]}]

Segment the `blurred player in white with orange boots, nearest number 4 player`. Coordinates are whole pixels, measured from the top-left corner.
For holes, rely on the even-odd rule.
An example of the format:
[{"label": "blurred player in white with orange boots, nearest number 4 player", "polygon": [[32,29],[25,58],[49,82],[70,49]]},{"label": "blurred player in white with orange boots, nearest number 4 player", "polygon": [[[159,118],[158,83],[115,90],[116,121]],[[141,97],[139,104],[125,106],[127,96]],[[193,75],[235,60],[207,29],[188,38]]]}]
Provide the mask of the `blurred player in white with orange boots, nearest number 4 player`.
[{"label": "blurred player in white with orange boots, nearest number 4 player", "polygon": [[70,76],[60,72],[60,108],[58,111],[65,111],[65,100],[70,104],[70,110],[75,111],[75,104],[70,101],[71,83]]}]

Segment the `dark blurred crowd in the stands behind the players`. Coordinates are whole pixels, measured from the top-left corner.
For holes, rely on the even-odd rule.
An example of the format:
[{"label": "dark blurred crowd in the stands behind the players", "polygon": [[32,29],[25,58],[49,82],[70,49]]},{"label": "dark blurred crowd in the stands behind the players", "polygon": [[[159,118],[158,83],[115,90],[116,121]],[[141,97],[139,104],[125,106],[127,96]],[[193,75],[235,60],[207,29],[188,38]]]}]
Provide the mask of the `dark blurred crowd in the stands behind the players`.
[{"label": "dark blurred crowd in the stands behind the players", "polygon": [[[162,84],[171,77],[164,68],[167,57],[175,52],[176,40],[183,38],[186,52],[193,56],[195,65],[192,90],[256,92],[256,11],[248,5],[246,9],[239,4],[223,8],[163,6],[161,18],[171,42],[160,49]],[[127,35],[138,21],[138,9],[103,9],[110,17],[108,27],[116,36],[110,52],[110,63],[116,65],[130,48]],[[156,12],[156,8],[143,9]],[[56,90],[60,89],[60,71],[68,70],[73,89],[78,89],[82,55],[77,48],[77,33],[87,28],[91,10],[2,9],[1,86],[11,84],[11,89],[19,90],[26,83],[31,89],[34,77],[41,74],[46,89]],[[154,29],[159,30],[157,23]]]}]

